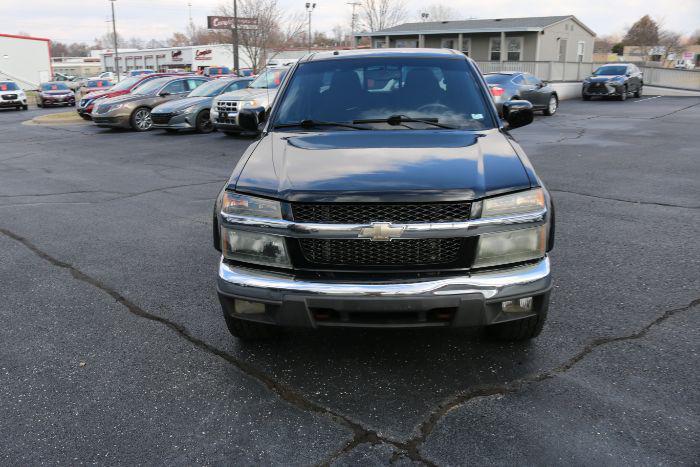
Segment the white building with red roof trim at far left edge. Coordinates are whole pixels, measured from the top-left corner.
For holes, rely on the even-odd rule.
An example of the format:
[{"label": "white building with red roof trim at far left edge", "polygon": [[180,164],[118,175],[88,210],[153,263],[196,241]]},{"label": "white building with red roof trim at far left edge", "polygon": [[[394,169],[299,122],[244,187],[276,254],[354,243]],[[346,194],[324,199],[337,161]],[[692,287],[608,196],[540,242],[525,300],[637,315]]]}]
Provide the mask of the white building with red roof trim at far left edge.
[{"label": "white building with red roof trim at far left edge", "polygon": [[15,81],[28,90],[52,76],[49,39],[0,34],[0,80]]}]

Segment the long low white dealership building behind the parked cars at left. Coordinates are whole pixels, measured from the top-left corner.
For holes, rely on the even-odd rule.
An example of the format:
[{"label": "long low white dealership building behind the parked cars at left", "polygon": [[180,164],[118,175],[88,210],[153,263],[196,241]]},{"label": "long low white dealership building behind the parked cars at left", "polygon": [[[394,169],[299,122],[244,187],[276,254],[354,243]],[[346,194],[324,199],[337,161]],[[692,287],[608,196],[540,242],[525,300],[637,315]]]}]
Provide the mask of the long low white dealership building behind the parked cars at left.
[{"label": "long low white dealership building behind the parked cars at left", "polygon": [[[114,53],[103,53],[101,57],[105,71],[116,71]],[[250,68],[250,57],[242,47],[238,48],[238,57],[241,68]],[[119,52],[119,71],[139,69],[197,71],[207,66],[233,68],[233,46],[214,44]]]}]

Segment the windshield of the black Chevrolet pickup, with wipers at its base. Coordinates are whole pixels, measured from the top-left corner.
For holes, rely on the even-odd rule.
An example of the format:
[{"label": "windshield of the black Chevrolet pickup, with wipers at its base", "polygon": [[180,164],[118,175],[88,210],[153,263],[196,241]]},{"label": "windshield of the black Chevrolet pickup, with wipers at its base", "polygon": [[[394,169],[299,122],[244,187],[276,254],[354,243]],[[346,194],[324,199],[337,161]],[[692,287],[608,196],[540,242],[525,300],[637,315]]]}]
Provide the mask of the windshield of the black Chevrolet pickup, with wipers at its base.
[{"label": "windshield of the black Chevrolet pickup, with wipers at its base", "polygon": [[401,116],[442,125],[492,128],[487,103],[463,59],[376,57],[300,65],[274,125],[362,123],[375,129],[435,129],[427,122],[363,122]]}]

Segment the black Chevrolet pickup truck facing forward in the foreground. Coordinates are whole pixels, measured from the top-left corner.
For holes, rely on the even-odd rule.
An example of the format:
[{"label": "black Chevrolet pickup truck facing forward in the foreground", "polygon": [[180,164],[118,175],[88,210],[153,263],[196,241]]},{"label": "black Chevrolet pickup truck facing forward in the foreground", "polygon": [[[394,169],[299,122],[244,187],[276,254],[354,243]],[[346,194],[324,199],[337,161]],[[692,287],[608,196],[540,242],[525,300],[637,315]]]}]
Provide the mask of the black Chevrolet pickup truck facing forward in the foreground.
[{"label": "black Chevrolet pickup truck facing forward in the foreground", "polygon": [[450,50],[322,52],[288,73],[214,207],[219,299],[234,336],[282,327],[544,323],[550,195],[475,63]]}]

